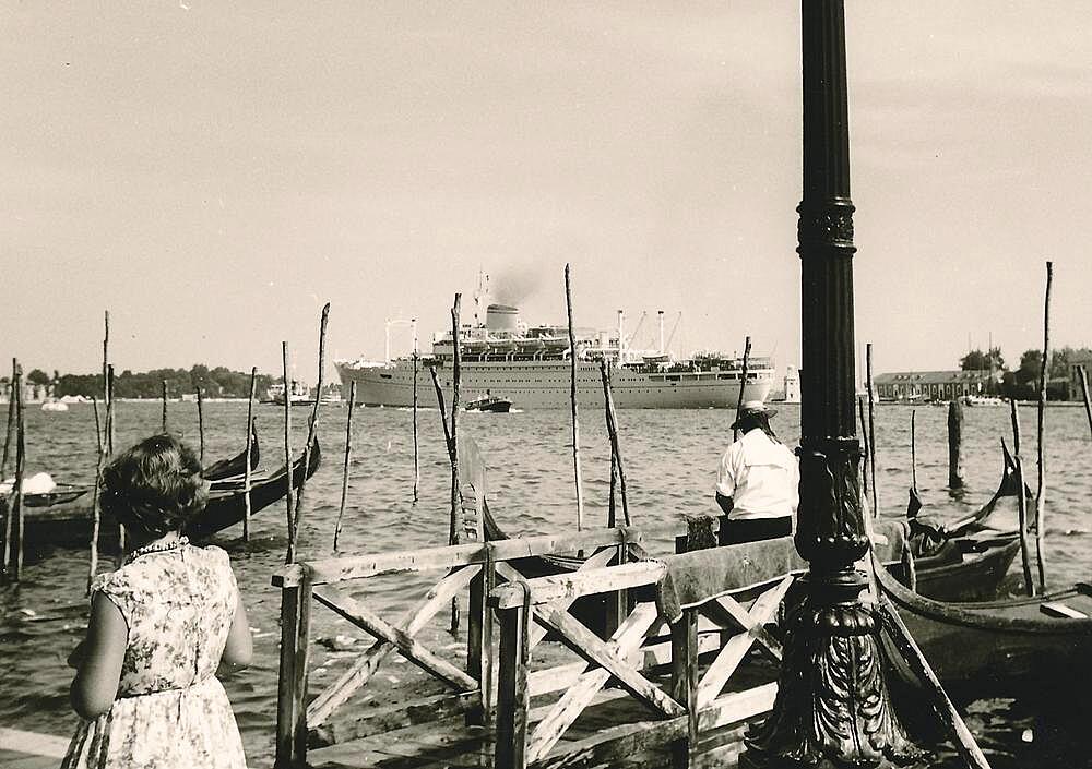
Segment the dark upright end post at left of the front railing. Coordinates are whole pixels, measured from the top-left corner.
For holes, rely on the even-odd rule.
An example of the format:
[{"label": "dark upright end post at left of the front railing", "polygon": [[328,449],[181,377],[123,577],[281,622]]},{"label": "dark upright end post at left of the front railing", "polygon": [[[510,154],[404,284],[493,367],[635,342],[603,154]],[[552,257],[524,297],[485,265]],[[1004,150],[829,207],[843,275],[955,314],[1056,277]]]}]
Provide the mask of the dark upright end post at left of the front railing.
[{"label": "dark upright end post at left of the front railing", "polygon": [[500,612],[500,670],[497,692],[497,767],[525,769],[527,743],[529,610],[525,604]]}]

